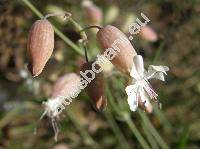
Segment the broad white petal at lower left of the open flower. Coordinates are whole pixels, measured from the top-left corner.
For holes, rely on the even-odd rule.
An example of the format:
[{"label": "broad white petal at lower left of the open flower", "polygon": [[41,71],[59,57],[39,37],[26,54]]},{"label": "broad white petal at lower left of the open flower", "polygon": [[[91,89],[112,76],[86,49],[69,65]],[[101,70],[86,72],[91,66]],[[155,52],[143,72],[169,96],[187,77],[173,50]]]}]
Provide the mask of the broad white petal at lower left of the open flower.
[{"label": "broad white petal at lower left of the open flower", "polygon": [[128,95],[128,105],[131,111],[136,111],[138,107],[138,100],[135,92],[131,92],[131,94]]}]

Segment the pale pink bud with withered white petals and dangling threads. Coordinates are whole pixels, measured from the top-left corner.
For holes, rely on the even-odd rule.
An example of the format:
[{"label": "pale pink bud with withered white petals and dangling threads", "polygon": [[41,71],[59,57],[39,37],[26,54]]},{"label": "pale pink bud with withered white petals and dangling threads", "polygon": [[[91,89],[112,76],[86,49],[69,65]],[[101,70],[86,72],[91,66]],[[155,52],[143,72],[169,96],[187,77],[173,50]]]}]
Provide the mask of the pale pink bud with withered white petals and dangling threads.
[{"label": "pale pink bud with withered white petals and dangling threads", "polygon": [[43,102],[45,111],[41,118],[47,114],[51,118],[52,126],[57,140],[59,128],[57,118],[59,114],[72,102],[73,98],[80,93],[80,77],[75,73],[68,73],[60,77],[54,84],[52,96],[48,101]]}]

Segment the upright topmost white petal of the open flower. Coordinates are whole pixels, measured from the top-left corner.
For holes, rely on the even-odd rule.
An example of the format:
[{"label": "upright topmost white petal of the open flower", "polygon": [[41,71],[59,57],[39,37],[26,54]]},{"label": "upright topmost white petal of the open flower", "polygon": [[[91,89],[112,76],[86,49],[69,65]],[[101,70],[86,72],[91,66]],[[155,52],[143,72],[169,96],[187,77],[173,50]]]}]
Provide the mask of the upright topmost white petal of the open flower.
[{"label": "upright topmost white petal of the open flower", "polygon": [[133,58],[133,63],[139,75],[143,76],[144,73],[144,62],[141,55],[136,55]]}]

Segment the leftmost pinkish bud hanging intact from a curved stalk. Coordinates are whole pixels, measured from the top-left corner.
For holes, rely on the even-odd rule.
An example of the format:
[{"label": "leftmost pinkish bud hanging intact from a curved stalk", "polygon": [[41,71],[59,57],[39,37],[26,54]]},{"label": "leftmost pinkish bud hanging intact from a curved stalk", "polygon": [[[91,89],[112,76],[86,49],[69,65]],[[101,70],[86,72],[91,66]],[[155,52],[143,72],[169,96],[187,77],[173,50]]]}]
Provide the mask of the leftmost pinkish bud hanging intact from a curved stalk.
[{"label": "leftmost pinkish bud hanging intact from a curved stalk", "polygon": [[37,20],[31,27],[28,36],[28,68],[32,76],[38,76],[54,48],[54,30],[51,23],[46,20]]}]

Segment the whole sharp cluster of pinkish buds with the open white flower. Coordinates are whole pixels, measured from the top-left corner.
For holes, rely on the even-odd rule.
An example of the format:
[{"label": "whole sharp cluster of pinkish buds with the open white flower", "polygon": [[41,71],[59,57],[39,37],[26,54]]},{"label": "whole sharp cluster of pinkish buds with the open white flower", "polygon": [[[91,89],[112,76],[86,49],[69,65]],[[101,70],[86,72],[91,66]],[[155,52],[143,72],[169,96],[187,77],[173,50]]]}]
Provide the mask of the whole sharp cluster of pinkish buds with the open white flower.
[{"label": "whole sharp cluster of pinkish buds with the open white flower", "polygon": [[[92,9],[88,9],[88,12],[91,13],[94,10],[97,11],[96,7],[92,6]],[[29,70],[34,77],[42,73],[53,53],[54,29],[47,18],[57,15],[59,14],[46,15],[43,19],[36,21],[30,30],[28,40]],[[99,16],[101,16],[100,12]],[[66,13],[64,17],[69,18],[71,14]],[[72,20],[72,18],[70,20],[77,27],[78,23]],[[97,20],[93,20],[93,23],[95,21]],[[145,23],[140,21],[140,24],[144,27],[147,22],[149,20],[146,17]],[[101,59],[97,56],[96,61],[88,61],[86,42],[84,41],[87,38],[85,38],[86,34],[84,33],[81,41],[85,50],[86,62],[82,64],[80,74],[77,75],[72,72],[60,77],[53,85],[51,97],[46,102],[43,102],[45,107],[43,116],[47,115],[51,118],[55,131],[55,139],[57,139],[59,132],[56,123],[59,114],[65,109],[65,106],[72,102],[73,98],[78,96],[81,90],[85,89],[88,96],[94,102],[96,109],[102,111],[106,108],[107,97],[105,94],[103,68],[101,68],[104,59],[110,61],[122,73],[130,73],[130,76],[133,78],[132,84],[125,89],[128,94],[128,104],[132,111],[136,111],[140,104],[143,104],[143,107],[148,109],[150,105],[149,99],[157,100],[158,95],[148,80],[155,78],[164,81],[164,74],[166,75],[166,71],[169,70],[167,66],[150,65],[148,71],[146,71],[142,56],[137,55],[137,52],[129,41],[130,38],[128,39],[123,32],[112,25],[104,27],[94,25],[89,28],[92,27],[98,28],[96,38],[103,56],[101,56]],[[82,35],[81,32],[84,29],[82,30],[80,26],[77,28],[80,31],[80,35]]]}]

